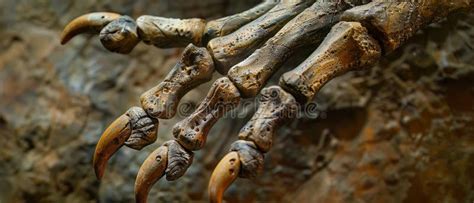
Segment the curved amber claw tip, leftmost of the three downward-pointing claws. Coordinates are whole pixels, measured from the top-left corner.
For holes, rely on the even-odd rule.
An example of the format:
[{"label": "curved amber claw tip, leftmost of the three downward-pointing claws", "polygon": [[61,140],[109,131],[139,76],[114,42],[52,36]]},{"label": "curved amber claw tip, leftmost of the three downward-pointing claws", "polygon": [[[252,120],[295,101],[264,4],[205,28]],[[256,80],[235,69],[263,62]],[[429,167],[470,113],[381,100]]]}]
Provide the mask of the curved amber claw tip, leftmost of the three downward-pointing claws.
[{"label": "curved amber claw tip, leftmost of the three downward-pointing claws", "polygon": [[124,145],[131,133],[130,117],[125,114],[118,117],[104,131],[97,143],[94,153],[93,165],[97,179],[100,180],[102,178],[107,161]]}]

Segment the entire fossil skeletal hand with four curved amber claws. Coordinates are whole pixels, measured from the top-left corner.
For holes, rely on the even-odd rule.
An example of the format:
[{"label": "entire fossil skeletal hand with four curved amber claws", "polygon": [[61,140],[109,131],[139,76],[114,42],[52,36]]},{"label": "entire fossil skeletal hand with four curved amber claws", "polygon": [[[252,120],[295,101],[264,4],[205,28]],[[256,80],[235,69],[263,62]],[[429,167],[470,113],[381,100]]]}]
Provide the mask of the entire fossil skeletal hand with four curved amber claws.
[{"label": "entire fossil skeletal hand with four curved amber claws", "polygon": [[[262,171],[276,129],[328,81],[371,67],[424,26],[473,6],[470,0],[267,0],[207,23],[154,16],[142,16],[135,23],[126,16],[92,13],[66,26],[61,43],[86,31],[100,32],[104,47],[118,53],[129,53],[140,41],[162,48],[191,43],[164,81],[141,96],[142,107],[131,108],[106,129],[94,156],[98,178],[121,146],[141,149],[154,142],[158,119],[173,117],[189,90],[210,81],[214,70],[225,75],[214,82],[196,111],[175,125],[175,139],[146,159],[136,179],[137,202],[146,202],[148,191],[162,176],[181,177],[214,123],[241,98],[260,93],[258,110],[212,174],[209,197],[221,202],[237,177],[251,178]],[[264,88],[296,49],[318,43],[308,59],[280,77],[280,86]]]}]

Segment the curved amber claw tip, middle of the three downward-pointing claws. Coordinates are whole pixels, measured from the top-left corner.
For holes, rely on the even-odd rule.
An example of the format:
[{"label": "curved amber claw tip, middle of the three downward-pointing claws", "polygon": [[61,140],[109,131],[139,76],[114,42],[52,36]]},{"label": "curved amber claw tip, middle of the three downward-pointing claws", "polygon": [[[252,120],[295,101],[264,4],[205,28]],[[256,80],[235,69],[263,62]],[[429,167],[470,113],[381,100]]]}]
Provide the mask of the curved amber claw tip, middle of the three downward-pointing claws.
[{"label": "curved amber claw tip, middle of the three downward-pointing claws", "polygon": [[143,162],[135,180],[135,201],[145,203],[151,187],[165,173],[168,165],[168,147],[161,146]]}]

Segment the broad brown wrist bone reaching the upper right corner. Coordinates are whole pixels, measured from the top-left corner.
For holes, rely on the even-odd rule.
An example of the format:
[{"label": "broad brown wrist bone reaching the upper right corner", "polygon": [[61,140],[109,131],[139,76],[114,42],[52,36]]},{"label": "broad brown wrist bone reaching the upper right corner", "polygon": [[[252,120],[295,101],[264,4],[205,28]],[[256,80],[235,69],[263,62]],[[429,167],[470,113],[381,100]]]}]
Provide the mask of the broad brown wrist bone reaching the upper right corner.
[{"label": "broad brown wrist bone reaching the upper right corner", "polygon": [[361,22],[377,40],[385,52],[391,52],[412,37],[420,28],[443,19],[454,10],[474,6],[469,0],[422,0],[385,1],[347,10],[343,21]]}]

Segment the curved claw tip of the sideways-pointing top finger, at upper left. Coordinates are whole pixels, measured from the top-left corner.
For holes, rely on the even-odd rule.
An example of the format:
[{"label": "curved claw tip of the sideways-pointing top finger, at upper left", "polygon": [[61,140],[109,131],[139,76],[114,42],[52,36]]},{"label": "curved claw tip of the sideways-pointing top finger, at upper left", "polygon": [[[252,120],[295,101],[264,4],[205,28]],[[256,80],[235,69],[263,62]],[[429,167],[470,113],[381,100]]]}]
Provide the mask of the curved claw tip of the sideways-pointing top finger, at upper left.
[{"label": "curved claw tip of the sideways-pointing top finger, at upper left", "polygon": [[74,36],[84,32],[96,32],[121,15],[110,12],[95,12],[79,16],[66,25],[61,33],[61,44],[66,44]]}]

